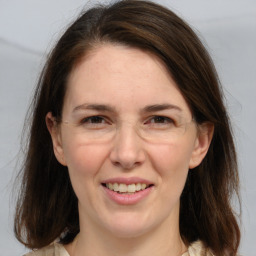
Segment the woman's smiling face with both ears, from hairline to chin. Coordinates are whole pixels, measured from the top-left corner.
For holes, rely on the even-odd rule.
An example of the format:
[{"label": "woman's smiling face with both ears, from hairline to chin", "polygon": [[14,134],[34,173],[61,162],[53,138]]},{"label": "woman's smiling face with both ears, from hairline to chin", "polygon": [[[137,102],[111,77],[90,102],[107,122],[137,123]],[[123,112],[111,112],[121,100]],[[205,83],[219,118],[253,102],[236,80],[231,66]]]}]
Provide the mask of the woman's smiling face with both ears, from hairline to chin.
[{"label": "woman's smiling face with both ears, from hairline to chin", "polygon": [[46,120],[78,197],[81,230],[135,237],[178,229],[189,168],[203,159],[210,136],[191,121],[156,57],[99,46],[71,73],[61,124],[51,113]]}]

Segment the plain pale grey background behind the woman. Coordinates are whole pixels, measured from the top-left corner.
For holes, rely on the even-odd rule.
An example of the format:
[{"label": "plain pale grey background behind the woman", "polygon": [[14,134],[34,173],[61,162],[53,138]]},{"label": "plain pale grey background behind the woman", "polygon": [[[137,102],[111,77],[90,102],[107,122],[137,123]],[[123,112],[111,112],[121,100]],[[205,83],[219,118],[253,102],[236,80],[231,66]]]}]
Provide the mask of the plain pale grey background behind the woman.
[{"label": "plain pale grey background behind the woman", "polygon": [[[100,1],[0,0],[0,255],[22,255],[11,197],[23,120],[47,52],[82,7]],[[103,1],[101,1],[103,2]],[[105,1],[106,2],[106,1]],[[256,255],[256,1],[159,0],[198,31],[224,86],[236,135],[243,255]]]}]

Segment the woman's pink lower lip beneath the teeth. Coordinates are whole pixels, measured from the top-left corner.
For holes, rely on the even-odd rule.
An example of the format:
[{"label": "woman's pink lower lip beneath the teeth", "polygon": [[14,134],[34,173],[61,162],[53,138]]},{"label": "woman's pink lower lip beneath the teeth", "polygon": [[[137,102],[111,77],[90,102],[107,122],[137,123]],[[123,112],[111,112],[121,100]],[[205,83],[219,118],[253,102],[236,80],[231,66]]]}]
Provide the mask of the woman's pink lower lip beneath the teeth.
[{"label": "woman's pink lower lip beneath the teeth", "polygon": [[115,203],[122,204],[122,205],[132,205],[132,204],[137,204],[140,201],[142,201],[143,199],[145,199],[152,191],[153,186],[148,187],[144,190],[140,190],[133,194],[117,193],[115,191],[108,189],[107,187],[104,187],[104,186],[103,186],[103,189],[104,189],[105,193],[107,194],[107,196]]}]

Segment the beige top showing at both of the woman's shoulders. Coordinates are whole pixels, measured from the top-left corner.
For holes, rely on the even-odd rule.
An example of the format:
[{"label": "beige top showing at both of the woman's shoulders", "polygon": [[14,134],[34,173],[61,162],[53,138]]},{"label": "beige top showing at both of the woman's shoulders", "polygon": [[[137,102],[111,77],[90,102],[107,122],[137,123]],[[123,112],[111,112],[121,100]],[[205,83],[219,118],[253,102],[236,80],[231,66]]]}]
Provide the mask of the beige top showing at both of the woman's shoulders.
[{"label": "beige top showing at both of the woman's shoulders", "polygon": [[[59,243],[53,243],[42,249],[32,251],[24,256],[70,256],[64,246]],[[188,247],[188,251],[181,256],[214,256],[211,252],[207,252],[202,242],[197,241]]]}]

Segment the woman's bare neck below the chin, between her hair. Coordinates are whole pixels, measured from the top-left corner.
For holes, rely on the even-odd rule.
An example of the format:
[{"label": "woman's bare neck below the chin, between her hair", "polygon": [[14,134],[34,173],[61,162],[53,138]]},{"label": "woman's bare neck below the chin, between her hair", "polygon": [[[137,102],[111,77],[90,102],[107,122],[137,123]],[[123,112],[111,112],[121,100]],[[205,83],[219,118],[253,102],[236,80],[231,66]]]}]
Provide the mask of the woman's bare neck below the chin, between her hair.
[{"label": "woman's bare neck below the chin, between her hair", "polygon": [[[187,249],[184,245],[178,225],[162,227],[136,237],[117,237],[109,232],[90,229],[86,226],[68,245],[70,256],[181,256]],[[168,227],[168,228],[166,228]]]}]

